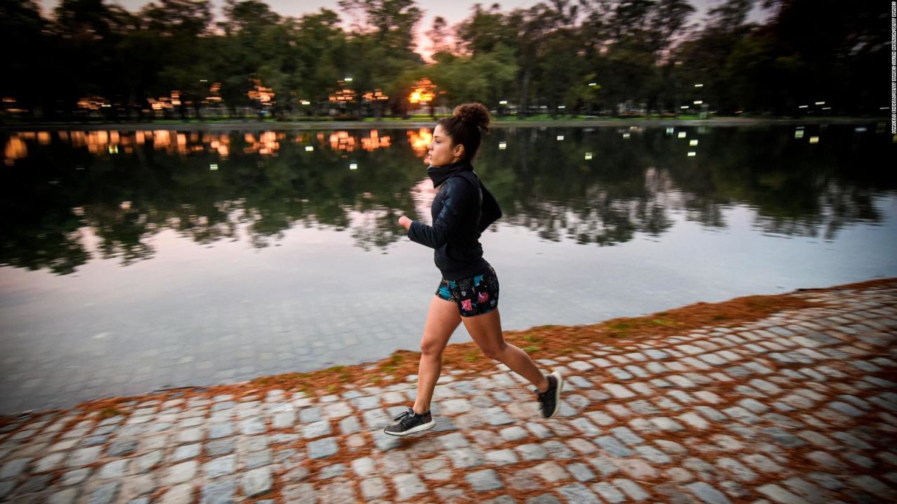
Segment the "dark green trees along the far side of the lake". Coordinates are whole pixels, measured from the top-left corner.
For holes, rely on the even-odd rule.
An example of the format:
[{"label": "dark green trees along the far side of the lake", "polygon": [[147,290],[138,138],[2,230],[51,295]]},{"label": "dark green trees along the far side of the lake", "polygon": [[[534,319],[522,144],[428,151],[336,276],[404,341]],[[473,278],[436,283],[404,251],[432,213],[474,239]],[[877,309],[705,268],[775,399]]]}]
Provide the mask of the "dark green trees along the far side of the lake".
[{"label": "dark green trees along the far side of the lake", "polygon": [[[769,18],[748,22],[760,4]],[[414,0],[283,17],[258,0],[0,0],[0,120],[407,117],[478,100],[500,115],[878,115],[886,3],[687,0],[475,4],[421,27]],[[424,30],[430,59],[417,48]],[[415,92],[420,91],[420,92]],[[418,100],[417,97],[423,97]]]}]

